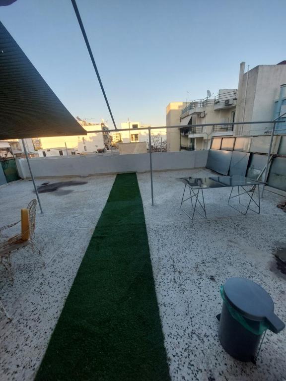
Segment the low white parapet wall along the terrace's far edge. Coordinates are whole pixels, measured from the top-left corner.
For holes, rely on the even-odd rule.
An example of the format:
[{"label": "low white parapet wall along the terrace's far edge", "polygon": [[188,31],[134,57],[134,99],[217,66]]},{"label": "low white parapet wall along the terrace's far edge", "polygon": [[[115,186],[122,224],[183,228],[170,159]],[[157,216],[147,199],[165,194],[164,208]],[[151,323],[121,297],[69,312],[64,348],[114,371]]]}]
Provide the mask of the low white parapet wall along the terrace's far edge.
[{"label": "low white parapet wall along the terrace's far edge", "polygon": [[[205,167],[208,150],[152,153],[154,171]],[[17,159],[19,176],[30,178],[26,159]],[[150,170],[149,154],[54,156],[30,159],[36,178],[55,176],[89,176]]]}]

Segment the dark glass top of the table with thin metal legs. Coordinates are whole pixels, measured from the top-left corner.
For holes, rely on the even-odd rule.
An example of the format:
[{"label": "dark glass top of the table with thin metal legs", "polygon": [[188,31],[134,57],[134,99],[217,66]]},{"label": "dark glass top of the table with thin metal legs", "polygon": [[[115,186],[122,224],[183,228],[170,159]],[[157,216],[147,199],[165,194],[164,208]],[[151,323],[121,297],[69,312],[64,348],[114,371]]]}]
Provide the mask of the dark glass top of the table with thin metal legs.
[{"label": "dark glass top of the table with thin metal legs", "polygon": [[181,177],[177,179],[192,189],[238,187],[247,185],[265,184],[261,181],[252,180],[248,177],[232,176],[211,176],[202,178]]}]

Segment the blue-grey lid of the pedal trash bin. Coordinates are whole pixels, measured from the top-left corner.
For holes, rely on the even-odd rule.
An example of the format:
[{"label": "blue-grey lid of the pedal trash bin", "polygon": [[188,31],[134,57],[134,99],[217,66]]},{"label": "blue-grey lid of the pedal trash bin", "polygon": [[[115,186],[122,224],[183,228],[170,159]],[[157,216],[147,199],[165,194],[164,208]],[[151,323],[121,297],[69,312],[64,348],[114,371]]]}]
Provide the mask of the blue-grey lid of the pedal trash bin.
[{"label": "blue-grey lid of the pedal trash bin", "polygon": [[229,278],[224,283],[224,294],[230,305],[244,318],[267,320],[270,329],[278,333],[285,324],[274,314],[271,296],[257,283],[246,278]]}]

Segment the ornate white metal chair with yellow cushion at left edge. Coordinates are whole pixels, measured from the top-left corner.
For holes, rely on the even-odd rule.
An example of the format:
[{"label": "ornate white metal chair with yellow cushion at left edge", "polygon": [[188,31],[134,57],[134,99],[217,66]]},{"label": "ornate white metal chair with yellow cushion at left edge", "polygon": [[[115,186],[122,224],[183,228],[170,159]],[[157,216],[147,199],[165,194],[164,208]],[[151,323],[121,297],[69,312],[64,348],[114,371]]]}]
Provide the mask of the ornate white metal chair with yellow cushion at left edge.
[{"label": "ornate white metal chair with yellow cushion at left edge", "polygon": [[[11,280],[13,280],[13,276],[11,273],[11,254],[14,251],[24,248],[30,248],[34,255],[35,252],[41,254],[40,249],[35,245],[33,239],[35,238],[35,225],[36,225],[36,206],[37,200],[33,199],[29,202],[28,207],[26,209],[21,209],[21,220],[11,224],[3,226],[0,231],[4,229],[8,229],[17,223],[21,222],[21,233],[12,236],[5,241],[0,242],[0,264],[2,264],[7,270]],[[1,234],[2,237],[6,237]],[[43,261],[45,265],[45,262]]]}]

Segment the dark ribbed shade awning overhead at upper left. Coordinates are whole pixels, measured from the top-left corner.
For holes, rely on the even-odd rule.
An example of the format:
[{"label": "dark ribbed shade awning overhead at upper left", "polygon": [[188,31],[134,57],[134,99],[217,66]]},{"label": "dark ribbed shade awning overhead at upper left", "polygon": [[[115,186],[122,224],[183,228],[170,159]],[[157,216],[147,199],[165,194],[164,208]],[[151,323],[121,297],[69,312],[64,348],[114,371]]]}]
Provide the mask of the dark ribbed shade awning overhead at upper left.
[{"label": "dark ribbed shade awning overhead at upper left", "polygon": [[0,140],[86,135],[0,22]]}]

